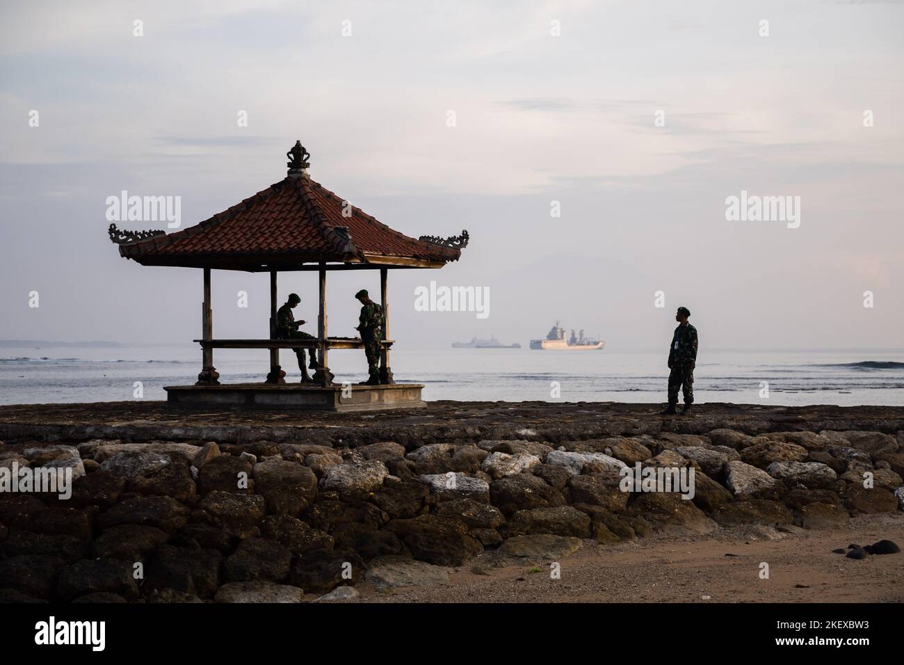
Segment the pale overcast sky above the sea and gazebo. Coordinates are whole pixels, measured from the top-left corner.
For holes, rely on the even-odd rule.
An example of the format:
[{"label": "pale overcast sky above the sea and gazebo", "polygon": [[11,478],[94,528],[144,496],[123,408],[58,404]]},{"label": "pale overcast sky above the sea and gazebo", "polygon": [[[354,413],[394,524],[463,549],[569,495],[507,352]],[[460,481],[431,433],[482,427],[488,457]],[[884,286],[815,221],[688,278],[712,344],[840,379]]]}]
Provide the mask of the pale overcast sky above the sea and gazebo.
[{"label": "pale overcast sky above the sea and gazebo", "polygon": [[[470,233],[457,263],[391,272],[391,336],[410,347],[491,334],[526,345],[556,318],[608,348],[664,347],[679,305],[702,347],[902,346],[900,3],[2,12],[0,338],[200,337],[201,271],[120,258],[107,197],[180,196],[189,226],[284,177],[301,139],[311,177],[383,223]],[[741,191],[799,196],[799,227],[727,221]],[[354,334],[353,293],[379,291],[378,275],[329,276],[331,333]],[[489,317],[415,311],[429,280],[488,288]],[[280,279],[311,321],[315,288],[315,273]],[[213,296],[215,337],[266,337],[267,275],[215,271]]]}]

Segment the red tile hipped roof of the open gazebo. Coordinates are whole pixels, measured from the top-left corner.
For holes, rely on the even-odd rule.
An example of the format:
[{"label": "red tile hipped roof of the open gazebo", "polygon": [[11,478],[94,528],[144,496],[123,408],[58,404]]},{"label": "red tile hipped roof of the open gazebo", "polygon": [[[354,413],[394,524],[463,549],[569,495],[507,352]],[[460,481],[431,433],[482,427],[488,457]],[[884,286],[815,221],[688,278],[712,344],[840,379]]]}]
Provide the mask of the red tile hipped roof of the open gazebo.
[{"label": "red tile hipped roof of the open gazebo", "polygon": [[254,271],[319,261],[441,265],[457,261],[461,250],[393,231],[299,175],[183,231],[120,244],[119,253],[143,265]]}]

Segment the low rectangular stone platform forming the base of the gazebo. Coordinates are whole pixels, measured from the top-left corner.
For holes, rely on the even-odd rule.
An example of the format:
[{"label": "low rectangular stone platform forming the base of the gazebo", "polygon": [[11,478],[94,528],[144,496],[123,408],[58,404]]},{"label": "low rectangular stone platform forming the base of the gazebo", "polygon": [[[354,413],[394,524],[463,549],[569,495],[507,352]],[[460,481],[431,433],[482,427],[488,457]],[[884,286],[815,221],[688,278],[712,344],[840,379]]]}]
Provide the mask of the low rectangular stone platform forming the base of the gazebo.
[{"label": "low rectangular stone platform forming the base of the gazebo", "polygon": [[166,404],[182,408],[304,409],[308,411],[381,411],[426,406],[421,384],[169,385]]}]

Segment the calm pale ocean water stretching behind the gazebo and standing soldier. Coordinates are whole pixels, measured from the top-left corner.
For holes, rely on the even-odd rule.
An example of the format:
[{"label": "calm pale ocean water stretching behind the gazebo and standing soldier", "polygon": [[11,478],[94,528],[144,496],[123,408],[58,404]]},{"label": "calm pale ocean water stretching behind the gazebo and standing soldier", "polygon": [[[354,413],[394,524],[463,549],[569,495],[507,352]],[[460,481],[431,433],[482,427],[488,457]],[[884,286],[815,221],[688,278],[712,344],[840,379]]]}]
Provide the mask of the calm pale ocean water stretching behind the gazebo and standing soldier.
[{"label": "calm pale ocean water stretching behind the gazebo and standing soldier", "polygon": [[[281,352],[287,379],[295,355]],[[664,402],[664,354],[444,348],[391,355],[396,381],[420,383],[426,400]],[[266,350],[217,349],[221,383],[263,381]],[[363,351],[334,350],[337,382],[363,381]],[[165,399],[165,385],[191,385],[201,370],[193,344],[160,347],[0,347],[0,404]],[[904,351],[707,353],[694,373],[697,403],[904,405]],[[763,383],[768,396],[763,396]]]}]

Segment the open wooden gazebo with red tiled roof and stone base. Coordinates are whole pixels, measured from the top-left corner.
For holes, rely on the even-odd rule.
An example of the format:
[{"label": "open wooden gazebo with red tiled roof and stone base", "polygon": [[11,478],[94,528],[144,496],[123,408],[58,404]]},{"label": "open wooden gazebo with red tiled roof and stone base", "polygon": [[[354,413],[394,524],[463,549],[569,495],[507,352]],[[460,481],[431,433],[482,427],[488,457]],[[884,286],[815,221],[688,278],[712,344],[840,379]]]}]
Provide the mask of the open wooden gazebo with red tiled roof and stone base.
[{"label": "open wooden gazebo with red tiled roof and stone base", "polygon": [[[417,240],[392,230],[341,196],[315,183],[307,174],[308,157],[301,142],[287,152],[287,176],[228,210],[175,233],[128,232],[110,224],[110,240],[119,253],[148,266],[200,268],[203,271],[202,371],[193,386],[167,387],[168,401],[182,405],[249,404],[307,408],[385,408],[420,402],[420,385],[399,385],[390,368],[387,272],[393,268],[441,268],[457,261],[467,232],[442,239]],[[270,329],[267,338],[213,337],[211,271],[269,272]],[[329,337],[326,316],[326,272],[379,270],[381,305],[386,317],[381,344],[381,385],[355,385],[354,395],[337,393],[328,355],[331,348],[363,348],[356,337]],[[281,271],[318,271],[320,309],[314,339],[276,339],[277,276]],[[286,385],[279,349],[316,349],[315,385]],[[270,371],[263,384],[221,385],[213,366],[214,348],[267,348]],[[402,389],[416,389],[408,390]],[[347,391],[346,391],[347,392]],[[416,395],[415,395],[416,394]],[[408,395],[411,399],[405,398]],[[414,399],[416,396],[416,399]],[[326,397],[326,399],[324,399]]]}]

